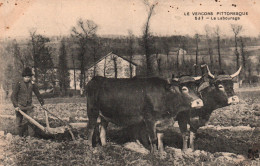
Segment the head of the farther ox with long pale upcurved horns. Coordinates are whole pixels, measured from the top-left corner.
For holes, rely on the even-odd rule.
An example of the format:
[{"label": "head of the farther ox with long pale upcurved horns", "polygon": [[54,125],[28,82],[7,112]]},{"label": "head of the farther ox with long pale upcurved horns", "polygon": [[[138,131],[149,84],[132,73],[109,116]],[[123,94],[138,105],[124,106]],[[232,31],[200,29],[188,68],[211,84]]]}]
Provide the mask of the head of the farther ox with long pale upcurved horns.
[{"label": "head of the farther ox with long pale upcurved horns", "polygon": [[205,86],[205,82],[203,82],[202,80],[202,83],[200,84],[198,91],[202,94],[202,96],[206,96],[203,97],[203,101],[204,99],[209,100],[209,98],[211,98],[212,101],[214,100],[214,102],[217,103],[219,106],[226,106],[229,104],[238,103],[239,98],[234,93],[232,79],[239,75],[242,67],[240,67],[238,71],[235,72],[234,74],[231,75],[223,74],[217,76],[214,76],[210,72],[208,66],[205,67],[207,69],[206,75],[207,77],[210,78],[210,81],[208,82],[208,84],[210,84],[209,85],[210,88],[207,88],[207,86],[203,87],[202,85],[204,84]]}]

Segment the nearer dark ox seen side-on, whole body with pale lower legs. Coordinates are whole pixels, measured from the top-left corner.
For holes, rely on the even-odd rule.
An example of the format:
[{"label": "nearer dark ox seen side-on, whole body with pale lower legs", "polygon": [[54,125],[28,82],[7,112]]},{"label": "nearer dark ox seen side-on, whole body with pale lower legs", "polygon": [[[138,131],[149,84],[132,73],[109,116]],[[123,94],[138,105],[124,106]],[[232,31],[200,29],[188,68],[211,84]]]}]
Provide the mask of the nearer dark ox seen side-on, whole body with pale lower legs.
[{"label": "nearer dark ox seen side-on, whole body with pale lower legs", "polygon": [[[86,87],[87,113],[89,118],[88,143],[93,144],[93,133],[97,118],[101,117],[100,140],[106,145],[106,128],[108,122],[116,125],[145,126],[144,145],[154,151],[155,141],[163,152],[162,133],[158,132],[180,111],[203,106],[203,102],[189,87],[179,87],[160,78],[114,79],[94,77]],[[140,130],[139,130],[140,131]],[[158,138],[158,139],[157,139]],[[145,140],[144,139],[144,140]]]}]

